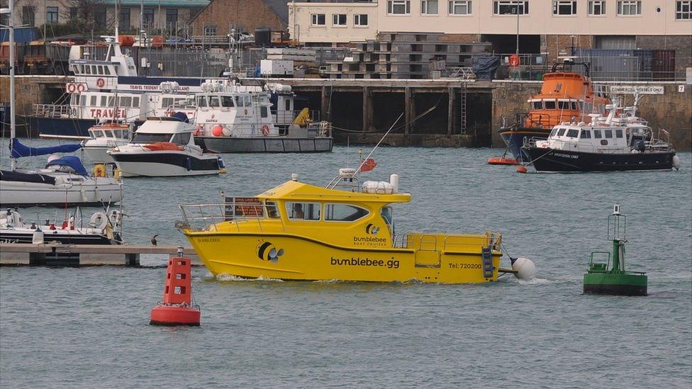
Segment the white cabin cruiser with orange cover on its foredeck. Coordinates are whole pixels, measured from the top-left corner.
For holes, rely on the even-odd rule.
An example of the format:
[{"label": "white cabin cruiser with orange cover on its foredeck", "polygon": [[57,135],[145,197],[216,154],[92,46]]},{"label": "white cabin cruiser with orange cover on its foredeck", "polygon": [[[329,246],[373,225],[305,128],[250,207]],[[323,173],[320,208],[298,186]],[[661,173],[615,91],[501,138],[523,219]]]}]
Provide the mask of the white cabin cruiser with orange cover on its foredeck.
[{"label": "white cabin cruiser with orange cover on its foredeck", "polygon": [[199,176],[223,173],[223,160],[194,143],[184,113],[148,118],[127,145],[108,151],[123,176]]}]

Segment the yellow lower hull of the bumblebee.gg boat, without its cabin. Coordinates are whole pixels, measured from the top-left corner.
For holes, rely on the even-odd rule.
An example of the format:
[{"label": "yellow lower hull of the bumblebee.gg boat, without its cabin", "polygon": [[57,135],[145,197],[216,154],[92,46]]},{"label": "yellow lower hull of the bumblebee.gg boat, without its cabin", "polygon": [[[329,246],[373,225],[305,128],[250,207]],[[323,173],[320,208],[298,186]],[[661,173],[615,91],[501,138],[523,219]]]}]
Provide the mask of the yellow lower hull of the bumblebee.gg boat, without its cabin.
[{"label": "yellow lower hull of the bumblebee.gg boat, without its cabin", "polygon": [[481,245],[467,252],[430,249],[350,248],[286,234],[186,235],[212,274],[301,281],[496,281],[501,252],[493,252],[484,273]]}]

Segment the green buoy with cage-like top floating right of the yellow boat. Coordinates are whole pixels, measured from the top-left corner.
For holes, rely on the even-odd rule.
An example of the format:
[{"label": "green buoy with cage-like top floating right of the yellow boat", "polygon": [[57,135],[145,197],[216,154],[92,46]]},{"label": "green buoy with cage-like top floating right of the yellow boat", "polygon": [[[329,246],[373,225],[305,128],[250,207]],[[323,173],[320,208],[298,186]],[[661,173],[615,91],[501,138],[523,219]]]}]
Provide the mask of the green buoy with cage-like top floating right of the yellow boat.
[{"label": "green buoy with cage-like top floating right of the yellow boat", "polygon": [[[641,271],[625,270],[625,242],[627,242],[627,216],[620,214],[620,205],[613,207],[608,216],[608,240],[613,241],[613,267],[610,252],[592,252],[584,274],[584,293],[599,295],[647,295],[648,278]],[[594,262],[594,254],[608,261]]]}]

